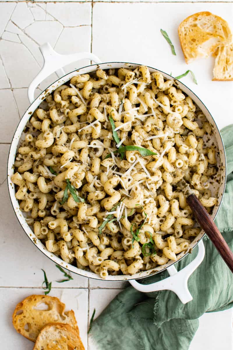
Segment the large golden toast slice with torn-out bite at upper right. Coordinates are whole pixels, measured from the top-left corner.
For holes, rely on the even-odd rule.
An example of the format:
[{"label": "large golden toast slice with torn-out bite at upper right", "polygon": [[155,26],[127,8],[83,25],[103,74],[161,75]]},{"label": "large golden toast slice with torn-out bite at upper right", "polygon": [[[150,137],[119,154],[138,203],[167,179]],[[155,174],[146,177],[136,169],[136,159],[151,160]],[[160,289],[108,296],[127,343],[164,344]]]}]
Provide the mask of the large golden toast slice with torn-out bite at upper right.
[{"label": "large golden toast slice with torn-out bite at upper right", "polygon": [[198,12],[186,18],[178,34],[186,63],[197,57],[208,57],[220,45],[232,41],[228,23],[210,12]]}]

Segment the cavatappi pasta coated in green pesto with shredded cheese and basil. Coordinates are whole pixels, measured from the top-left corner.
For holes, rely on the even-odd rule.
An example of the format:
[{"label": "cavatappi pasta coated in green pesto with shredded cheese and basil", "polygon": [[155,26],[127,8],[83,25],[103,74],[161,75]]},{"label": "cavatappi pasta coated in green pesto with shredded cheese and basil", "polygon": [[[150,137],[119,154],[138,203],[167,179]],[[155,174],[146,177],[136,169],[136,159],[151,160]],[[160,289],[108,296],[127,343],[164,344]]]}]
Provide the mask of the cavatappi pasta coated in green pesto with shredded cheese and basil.
[{"label": "cavatappi pasta coated in green pesto with shredded cheese and basil", "polygon": [[64,261],[134,274],[176,260],[200,229],[182,191],[211,212],[211,126],[192,99],[146,66],[74,76],[25,129],[12,181],[36,237]]}]

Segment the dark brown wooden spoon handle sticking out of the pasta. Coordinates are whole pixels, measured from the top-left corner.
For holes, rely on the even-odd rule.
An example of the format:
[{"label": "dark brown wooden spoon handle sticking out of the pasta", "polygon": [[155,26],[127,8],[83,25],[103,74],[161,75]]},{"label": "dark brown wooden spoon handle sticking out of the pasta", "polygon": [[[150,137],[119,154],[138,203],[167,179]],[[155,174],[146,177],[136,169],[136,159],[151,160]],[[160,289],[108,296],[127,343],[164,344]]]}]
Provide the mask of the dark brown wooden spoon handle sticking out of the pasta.
[{"label": "dark brown wooden spoon handle sticking out of the pasta", "polygon": [[233,273],[233,253],[219,232],[217,226],[214,224],[213,219],[194,194],[189,195],[186,200],[197,221],[209,236],[219,254]]}]

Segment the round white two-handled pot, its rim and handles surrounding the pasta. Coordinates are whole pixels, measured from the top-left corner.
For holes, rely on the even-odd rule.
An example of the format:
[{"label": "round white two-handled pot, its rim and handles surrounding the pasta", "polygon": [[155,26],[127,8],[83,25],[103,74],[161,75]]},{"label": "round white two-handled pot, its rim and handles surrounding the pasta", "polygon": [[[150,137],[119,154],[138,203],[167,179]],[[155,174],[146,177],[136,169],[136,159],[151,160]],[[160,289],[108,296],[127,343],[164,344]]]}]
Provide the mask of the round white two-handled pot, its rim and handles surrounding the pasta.
[{"label": "round white two-handled pot, its rim and handles surrounding the pasta", "polygon": [[[37,248],[42,251],[48,258],[50,258],[52,261],[54,261],[56,264],[67,268],[69,271],[77,273],[82,276],[86,276],[89,278],[94,279],[101,279],[99,275],[93,273],[92,271],[85,271],[78,267],[75,267],[71,264],[66,263],[65,261],[58,258],[53,253],[49,252],[46,247],[41,243],[39,239],[36,238],[30,227],[28,226],[22,211],[20,210],[19,203],[15,198],[15,187],[14,184],[11,181],[11,177],[14,173],[14,160],[16,155],[16,150],[19,144],[19,140],[21,138],[21,134],[23,133],[24,127],[27,123],[27,121],[30,119],[30,116],[32,113],[34,113],[35,109],[39,106],[39,104],[44,100],[46,95],[48,93],[51,93],[53,90],[55,90],[58,86],[66,83],[68,80],[70,80],[73,76],[78,74],[85,74],[92,71],[95,71],[98,68],[101,69],[109,69],[109,68],[121,68],[121,67],[131,67],[136,68],[139,64],[134,63],[125,63],[125,62],[109,62],[109,63],[101,63],[99,58],[97,58],[95,55],[85,52],[85,53],[78,53],[78,54],[72,54],[72,55],[60,55],[57,54],[57,52],[53,51],[50,44],[45,43],[40,47],[40,50],[42,52],[42,55],[44,57],[44,66],[42,70],[39,72],[39,74],[36,76],[36,78],[32,81],[28,88],[28,98],[31,103],[31,105],[28,107],[27,111],[24,113],[19,125],[17,126],[17,129],[15,131],[10,151],[9,151],[9,158],[8,158],[8,167],[7,167],[7,179],[8,179],[8,188],[9,188],[9,194],[10,199],[15,211],[15,214],[19,220],[19,223],[21,224],[23,230],[26,232],[27,236],[30,238],[30,240],[37,246]],[[78,61],[83,58],[91,59],[92,61],[96,62],[97,64],[88,65],[86,67],[83,67],[79,69],[78,71],[72,71],[65,75],[63,69],[61,67],[74,62]],[[159,71],[158,69],[149,67],[150,72]],[[43,91],[35,100],[34,100],[34,92],[36,87],[39,83],[42,82],[46,77],[48,77],[52,72],[56,71],[58,77],[60,77],[56,82],[52,83],[45,91]],[[161,72],[161,71],[159,71]],[[221,172],[221,181],[220,185],[218,184],[219,191],[217,196],[217,204],[215,205],[212,213],[212,217],[215,218],[217,215],[217,212],[219,210],[219,206],[221,203],[221,200],[223,198],[224,189],[225,189],[225,183],[226,183],[226,156],[225,156],[225,150],[223,145],[223,140],[221,138],[221,135],[219,133],[218,127],[213,120],[210,112],[207,110],[205,105],[202,103],[202,101],[193,93],[191,90],[188,89],[187,86],[182,84],[180,81],[176,80],[175,78],[171,77],[170,75],[161,72],[162,75],[166,79],[173,80],[174,84],[176,84],[181,90],[183,90],[188,96],[192,98],[192,100],[197,104],[197,106],[203,111],[203,113],[206,116],[206,119],[209,121],[209,123],[212,126],[213,134],[215,137],[215,142],[218,144],[219,148],[219,171]],[[197,266],[201,263],[201,261],[204,258],[204,245],[201,241],[204,231],[202,230],[197,237],[195,237],[194,241],[190,244],[190,248],[194,248],[198,242],[198,254],[197,257],[188,265],[186,266],[182,271],[177,272],[174,266],[174,261],[169,261],[167,264],[162,266],[157,266],[156,268],[148,271],[139,272],[135,275],[108,275],[107,281],[130,281],[130,283],[137,288],[138,290],[141,290],[142,292],[151,292],[155,290],[161,290],[161,289],[170,289],[173,290],[181,299],[183,303],[186,303],[190,300],[192,300],[192,296],[190,295],[188,288],[187,288],[187,281],[190,276],[190,274],[197,268]],[[182,252],[178,255],[178,260],[182,259],[187,255],[188,252]],[[176,262],[177,262],[176,261]],[[135,281],[135,279],[140,279],[147,277],[149,275],[153,275],[156,273],[159,273],[163,270],[167,269],[170,277],[167,279],[153,283],[151,285],[141,285],[138,282]]]}]

